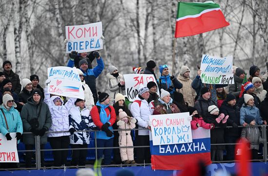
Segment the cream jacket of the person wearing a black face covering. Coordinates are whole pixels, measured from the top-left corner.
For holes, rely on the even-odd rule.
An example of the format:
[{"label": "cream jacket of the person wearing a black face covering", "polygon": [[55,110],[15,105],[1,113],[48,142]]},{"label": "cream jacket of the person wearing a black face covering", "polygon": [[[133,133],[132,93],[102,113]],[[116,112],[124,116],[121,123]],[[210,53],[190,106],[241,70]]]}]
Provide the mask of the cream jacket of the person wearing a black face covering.
[{"label": "cream jacket of the person wearing a black face covering", "polygon": [[125,95],[125,87],[118,86],[118,83],[121,81],[124,81],[124,78],[122,74],[119,74],[118,77],[113,76],[110,73],[106,74],[106,77],[108,79],[108,88],[109,88],[109,96],[110,96],[110,105],[115,103],[115,95],[117,93],[121,93],[122,95]]}]

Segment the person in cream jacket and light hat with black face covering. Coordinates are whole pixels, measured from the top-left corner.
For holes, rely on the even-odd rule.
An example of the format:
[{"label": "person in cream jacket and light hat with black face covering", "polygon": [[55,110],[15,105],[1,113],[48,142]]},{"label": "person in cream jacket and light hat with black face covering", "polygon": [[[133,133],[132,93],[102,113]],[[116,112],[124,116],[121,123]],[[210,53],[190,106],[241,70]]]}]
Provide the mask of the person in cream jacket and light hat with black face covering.
[{"label": "person in cream jacket and light hat with black face covering", "polygon": [[113,106],[115,103],[115,95],[117,93],[125,94],[125,81],[115,66],[108,67],[106,77],[108,78],[110,105]]}]

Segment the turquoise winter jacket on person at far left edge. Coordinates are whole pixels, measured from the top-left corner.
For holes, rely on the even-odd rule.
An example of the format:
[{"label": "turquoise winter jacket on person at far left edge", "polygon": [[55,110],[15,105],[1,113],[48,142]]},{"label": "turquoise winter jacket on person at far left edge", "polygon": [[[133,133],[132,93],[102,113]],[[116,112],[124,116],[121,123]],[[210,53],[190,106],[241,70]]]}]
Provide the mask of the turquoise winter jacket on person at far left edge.
[{"label": "turquoise winter jacket on person at far left edge", "polygon": [[15,109],[14,106],[12,106],[9,110],[7,110],[3,105],[1,105],[0,108],[3,110],[5,114],[6,121],[7,121],[8,128],[9,128],[9,130],[7,130],[4,115],[2,111],[0,111],[0,133],[2,133],[4,136],[7,133],[22,134],[23,125],[22,125],[22,121],[19,115],[19,111]]}]

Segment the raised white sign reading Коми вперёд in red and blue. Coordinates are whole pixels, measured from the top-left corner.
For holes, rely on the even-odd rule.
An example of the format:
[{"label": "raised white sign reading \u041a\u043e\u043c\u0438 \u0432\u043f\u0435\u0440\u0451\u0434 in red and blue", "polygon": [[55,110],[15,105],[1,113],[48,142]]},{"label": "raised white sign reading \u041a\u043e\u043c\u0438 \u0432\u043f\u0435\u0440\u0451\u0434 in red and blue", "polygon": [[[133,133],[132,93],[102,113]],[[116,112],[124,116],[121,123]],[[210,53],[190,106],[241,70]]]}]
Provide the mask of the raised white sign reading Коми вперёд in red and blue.
[{"label": "raised white sign reading \u041a\u043e\u043c\u0438 \u0432\u043f\u0435\u0440\u0451\u0434 in red and blue", "polygon": [[96,22],[79,26],[65,26],[66,53],[92,52],[103,48],[102,23]]}]

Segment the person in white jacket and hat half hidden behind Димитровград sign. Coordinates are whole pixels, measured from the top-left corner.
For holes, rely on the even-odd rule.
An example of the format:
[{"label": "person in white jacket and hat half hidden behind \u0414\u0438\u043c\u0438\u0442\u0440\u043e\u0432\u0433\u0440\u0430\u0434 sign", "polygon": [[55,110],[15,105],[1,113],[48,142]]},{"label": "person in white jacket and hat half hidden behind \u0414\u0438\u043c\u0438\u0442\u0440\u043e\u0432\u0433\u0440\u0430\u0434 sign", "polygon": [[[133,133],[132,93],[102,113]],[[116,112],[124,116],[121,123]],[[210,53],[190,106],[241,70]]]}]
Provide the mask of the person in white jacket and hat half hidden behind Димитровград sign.
[{"label": "person in white jacket and hat half hidden behind \u0414\u0438\u043c\u0438\u0442\u0440\u043e\u0432\u0433\u0440\u0430\u0434 sign", "polygon": [[77,69],[77,72],[80,76],[82,85],[83,85],[83,89],[84,89],[84,93],[85,93],[85,106],[88,110],[91,110],[93,106],[95,106],[94,104],[94,98],[93,98],[93,93],[90,90],[90,88],[88,87],[88,85],[86,84],[86,82],[84,81],[84,74],[80,69]]}]

